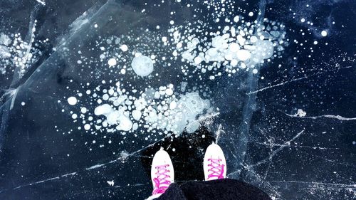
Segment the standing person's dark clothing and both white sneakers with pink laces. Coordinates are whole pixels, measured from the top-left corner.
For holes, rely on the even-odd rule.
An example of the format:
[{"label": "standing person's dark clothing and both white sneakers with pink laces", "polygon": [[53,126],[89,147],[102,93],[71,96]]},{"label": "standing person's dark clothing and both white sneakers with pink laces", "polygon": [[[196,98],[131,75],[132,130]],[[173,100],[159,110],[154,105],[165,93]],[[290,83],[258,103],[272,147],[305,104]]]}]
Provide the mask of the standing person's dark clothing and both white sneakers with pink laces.
[{"label": "standing person's dark clothing and both white sneakers with pink laces", "polygon": [[[165,167],[162,167],[162,169],[161,167],[157,168],[157,166],[162,165]],[[172,169],[169,167],[172,167],[172,162],[167,152],[162,150],[157,152],[152,162],[151,176],[154,184],[152,194],[154,195],[149,198],[150,200],[271,200],[266,193],[251,184],[234,179],[226,179],[226,160],[222,149],[217,144],[211,144],[206,149],[204,156],[206,181],[188,181],[179,186],[172,183],[174,174],[169,173],[173,172],[173,167]],[[164,181],[164,179],[166,180]],[[167,184],[162,186],[162,183]],[[167,185],[169,185],[168,189]]]}]

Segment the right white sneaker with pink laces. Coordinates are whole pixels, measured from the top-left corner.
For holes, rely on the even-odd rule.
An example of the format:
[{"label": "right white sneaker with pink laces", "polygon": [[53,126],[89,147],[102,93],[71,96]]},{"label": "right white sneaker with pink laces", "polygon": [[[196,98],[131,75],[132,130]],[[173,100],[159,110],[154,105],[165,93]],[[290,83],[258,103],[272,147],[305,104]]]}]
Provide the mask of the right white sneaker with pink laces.
[{"label": "right white sneaker with pink laces", "polygon": [[226,178],[226,160],[218,144],[210,144],[204,156],[204,175],[206,181]]}]

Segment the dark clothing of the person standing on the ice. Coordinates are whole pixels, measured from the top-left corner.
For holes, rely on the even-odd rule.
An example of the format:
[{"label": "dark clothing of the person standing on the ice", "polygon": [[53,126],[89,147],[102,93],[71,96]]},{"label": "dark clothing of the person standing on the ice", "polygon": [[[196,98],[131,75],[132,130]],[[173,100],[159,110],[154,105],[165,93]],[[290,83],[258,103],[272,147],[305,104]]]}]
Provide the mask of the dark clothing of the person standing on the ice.
[{"label": "dark clothing of the person standing on the ice", "polygon": [[155,200],[271,200],[256,186],[235,179],[189,181],[169,188]]}]

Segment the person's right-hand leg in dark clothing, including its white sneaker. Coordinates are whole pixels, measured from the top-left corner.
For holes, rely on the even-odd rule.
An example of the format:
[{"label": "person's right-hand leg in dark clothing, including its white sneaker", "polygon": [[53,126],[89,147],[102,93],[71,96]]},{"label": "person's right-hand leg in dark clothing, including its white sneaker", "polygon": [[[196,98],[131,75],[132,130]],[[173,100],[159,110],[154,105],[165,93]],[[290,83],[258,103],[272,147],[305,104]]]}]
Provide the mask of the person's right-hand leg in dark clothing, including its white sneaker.
[{"label": "person's right-hand leg in dark clothing, including its white sneaker", "polygon": [[205,181],[189,181],[179,186],[187,199],[271,200],[266,193],[255,186],[226,179],[226,160],[219,145],[211,144],[206,149],[203,165]]}]

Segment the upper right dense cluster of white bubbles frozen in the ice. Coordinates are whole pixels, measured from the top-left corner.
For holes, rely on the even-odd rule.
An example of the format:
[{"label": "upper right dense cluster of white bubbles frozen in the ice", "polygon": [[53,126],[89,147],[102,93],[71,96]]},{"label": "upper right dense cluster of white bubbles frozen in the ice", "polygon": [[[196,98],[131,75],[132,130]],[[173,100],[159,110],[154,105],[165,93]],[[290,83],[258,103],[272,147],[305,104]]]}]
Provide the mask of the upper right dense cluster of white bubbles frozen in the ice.
[{"label": "upper right dense cluster of white bubbles frozen in the ice", "polygon": [[[241,19],[244,18],[235,16],[234,22]],[[266,23],[267,25],[244,23],[241,26],[232,24],[225,26],[222,31],[210,33],[197,28],[202,25],[187,29],[173,27],[169,29],[169,33],[177,46],[175,55],[180,54],[187,63],[197,66],[201,73],[221,66],[225,66],[228,73],[234,73],[239,69],[255,68],[284,50],[284,26],[267,20]],[[192,30],[189,31],[190,29]],[[199,35],[200,32],[203,34]],[[211,36],[211,39],[206,35]],[[187,68],[183,71],[187,74]],[[212,77],[210,79],[214,80]]]}]

